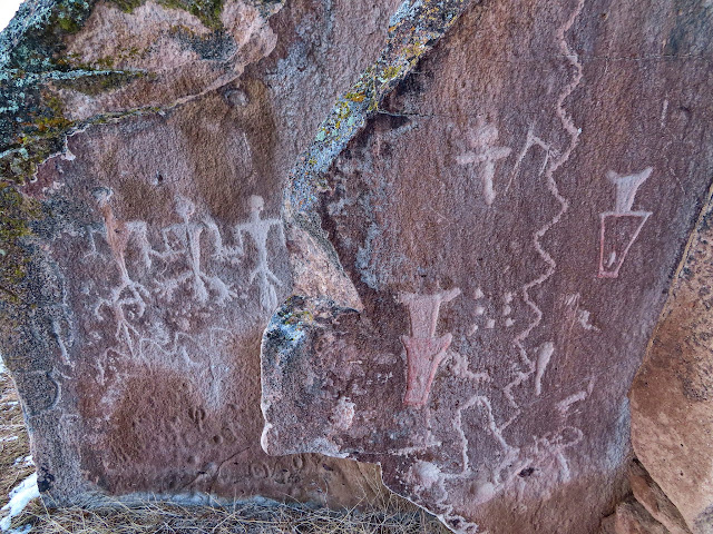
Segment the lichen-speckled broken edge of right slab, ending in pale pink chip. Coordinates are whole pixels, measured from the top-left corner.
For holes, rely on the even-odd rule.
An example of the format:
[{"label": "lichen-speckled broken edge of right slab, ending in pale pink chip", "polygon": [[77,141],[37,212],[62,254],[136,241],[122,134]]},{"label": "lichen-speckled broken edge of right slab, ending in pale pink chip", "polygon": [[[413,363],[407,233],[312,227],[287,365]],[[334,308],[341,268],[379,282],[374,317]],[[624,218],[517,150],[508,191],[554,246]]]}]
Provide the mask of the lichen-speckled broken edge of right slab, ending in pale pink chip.
[{"label": "lichen-speckled broken edge of right slab, ending in pale pink chip", "polygon": [[326,189],[325,175],[349,141],[380,112],[381,101],[413,71],[460,14],[480,1],[406,0],[391,17],[389,39],[379,59],[336,101],[310,148],[300,156],[283,198],[296,295],[326,296],[342,306],[361,309],[356,290],[318,214],[320,192]]}]

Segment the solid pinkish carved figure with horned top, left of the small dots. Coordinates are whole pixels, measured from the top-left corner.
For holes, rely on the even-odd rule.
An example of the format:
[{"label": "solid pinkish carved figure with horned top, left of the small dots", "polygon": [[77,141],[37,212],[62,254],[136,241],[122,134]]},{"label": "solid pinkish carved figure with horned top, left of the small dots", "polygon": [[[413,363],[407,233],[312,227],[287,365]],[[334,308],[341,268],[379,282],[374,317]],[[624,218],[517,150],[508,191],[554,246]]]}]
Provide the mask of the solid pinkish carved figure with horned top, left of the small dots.
[{"label": "solid pinkish carved figure with horned top, left of the small dots", "polygon": [[409,308],[411,319],[411,336],[401,336],[407,354],[407,390],[403,404],[408,406],[424,406],[428,402],[438,366],[453,339],[450,333],[436,337],[438,314],[442,303],[448,303],[458,295],[458,288],[433,295],[399,295],[399,301]]}]

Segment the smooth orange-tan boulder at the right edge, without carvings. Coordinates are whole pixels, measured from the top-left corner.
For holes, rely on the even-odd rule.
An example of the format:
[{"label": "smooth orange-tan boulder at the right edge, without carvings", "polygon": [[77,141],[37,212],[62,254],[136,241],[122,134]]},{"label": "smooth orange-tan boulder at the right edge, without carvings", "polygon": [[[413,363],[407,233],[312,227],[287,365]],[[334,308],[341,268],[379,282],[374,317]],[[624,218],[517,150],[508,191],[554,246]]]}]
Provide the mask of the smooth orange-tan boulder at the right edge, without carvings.
[{"label": "smooth orange-tan boulder at the right edge, without carvings", "polygon": [[696,534],[713,532],[712,209],[691,239],[629,394],[636,456]]}]

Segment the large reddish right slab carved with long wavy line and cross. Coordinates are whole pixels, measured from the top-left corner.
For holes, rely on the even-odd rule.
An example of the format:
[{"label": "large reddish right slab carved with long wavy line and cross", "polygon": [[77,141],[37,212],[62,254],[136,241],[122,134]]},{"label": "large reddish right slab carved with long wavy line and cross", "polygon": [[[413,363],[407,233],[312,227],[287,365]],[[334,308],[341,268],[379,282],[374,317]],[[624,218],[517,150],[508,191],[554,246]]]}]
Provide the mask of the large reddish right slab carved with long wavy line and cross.
[{"label": "large reddish right slab carved with long wavy line and cross", "polygon": [[457,532],[596,532],[711,181],[712,29],[705,2],[471,4],[297,167],[265,449],[379,462]]}]

